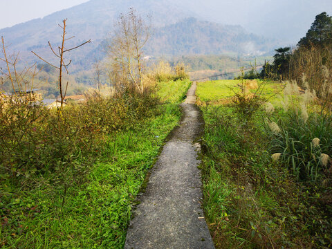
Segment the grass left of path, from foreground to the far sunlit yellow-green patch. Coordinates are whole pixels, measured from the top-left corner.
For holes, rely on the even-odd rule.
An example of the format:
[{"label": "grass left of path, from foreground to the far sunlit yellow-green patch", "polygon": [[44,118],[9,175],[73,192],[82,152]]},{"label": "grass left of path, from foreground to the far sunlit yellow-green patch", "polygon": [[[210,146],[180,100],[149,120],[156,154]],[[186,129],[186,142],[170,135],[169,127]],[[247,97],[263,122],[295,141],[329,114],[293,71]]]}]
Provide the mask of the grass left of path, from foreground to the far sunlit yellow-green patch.
[{"label": "grass left of path, from foreground to the far sunlit yellow-green patch", "polygon": [[160,84],[164,104],[134,127],[110,132],[98,153],[81,155],[62,174],[1,180],[1,248],[123,248],[136,194],[190,86]]}]

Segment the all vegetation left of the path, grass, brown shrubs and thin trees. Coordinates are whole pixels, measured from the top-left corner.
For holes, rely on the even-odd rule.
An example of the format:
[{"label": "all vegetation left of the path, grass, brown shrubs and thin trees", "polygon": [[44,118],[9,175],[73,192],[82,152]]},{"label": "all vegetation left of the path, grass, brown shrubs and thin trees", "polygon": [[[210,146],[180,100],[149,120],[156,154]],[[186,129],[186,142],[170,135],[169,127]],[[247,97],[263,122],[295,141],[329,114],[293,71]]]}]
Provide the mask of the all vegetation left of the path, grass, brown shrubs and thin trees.
[{"label": "all vegetation left of the path, grass, brown shrubs and thin trees", "polygon": [[[145,30],[133,11],[121,20]],[[48,109],[26,93],[42,68],[3,59],[15,90],[0,93],[1,248],[123,248],[136,195],[191,83],[181,65],[143,72],[133,50],[142,37],[129,33],[133,44],[119,50],[129,64],[113,62],[111,84],[97,82],[80,104]]]}]

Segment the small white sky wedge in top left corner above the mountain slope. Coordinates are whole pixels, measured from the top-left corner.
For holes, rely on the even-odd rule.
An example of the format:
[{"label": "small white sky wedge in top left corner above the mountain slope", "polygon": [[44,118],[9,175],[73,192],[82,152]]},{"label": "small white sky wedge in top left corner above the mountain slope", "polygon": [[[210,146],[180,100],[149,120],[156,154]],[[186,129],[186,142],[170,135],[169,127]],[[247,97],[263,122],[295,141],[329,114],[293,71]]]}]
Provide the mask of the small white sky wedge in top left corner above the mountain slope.
[{"label": "small white sky wedge in top left corner above the mountain slope", "polygon": [[0,29],[45,17],[86,1],[89,0],[0,0]]}]

